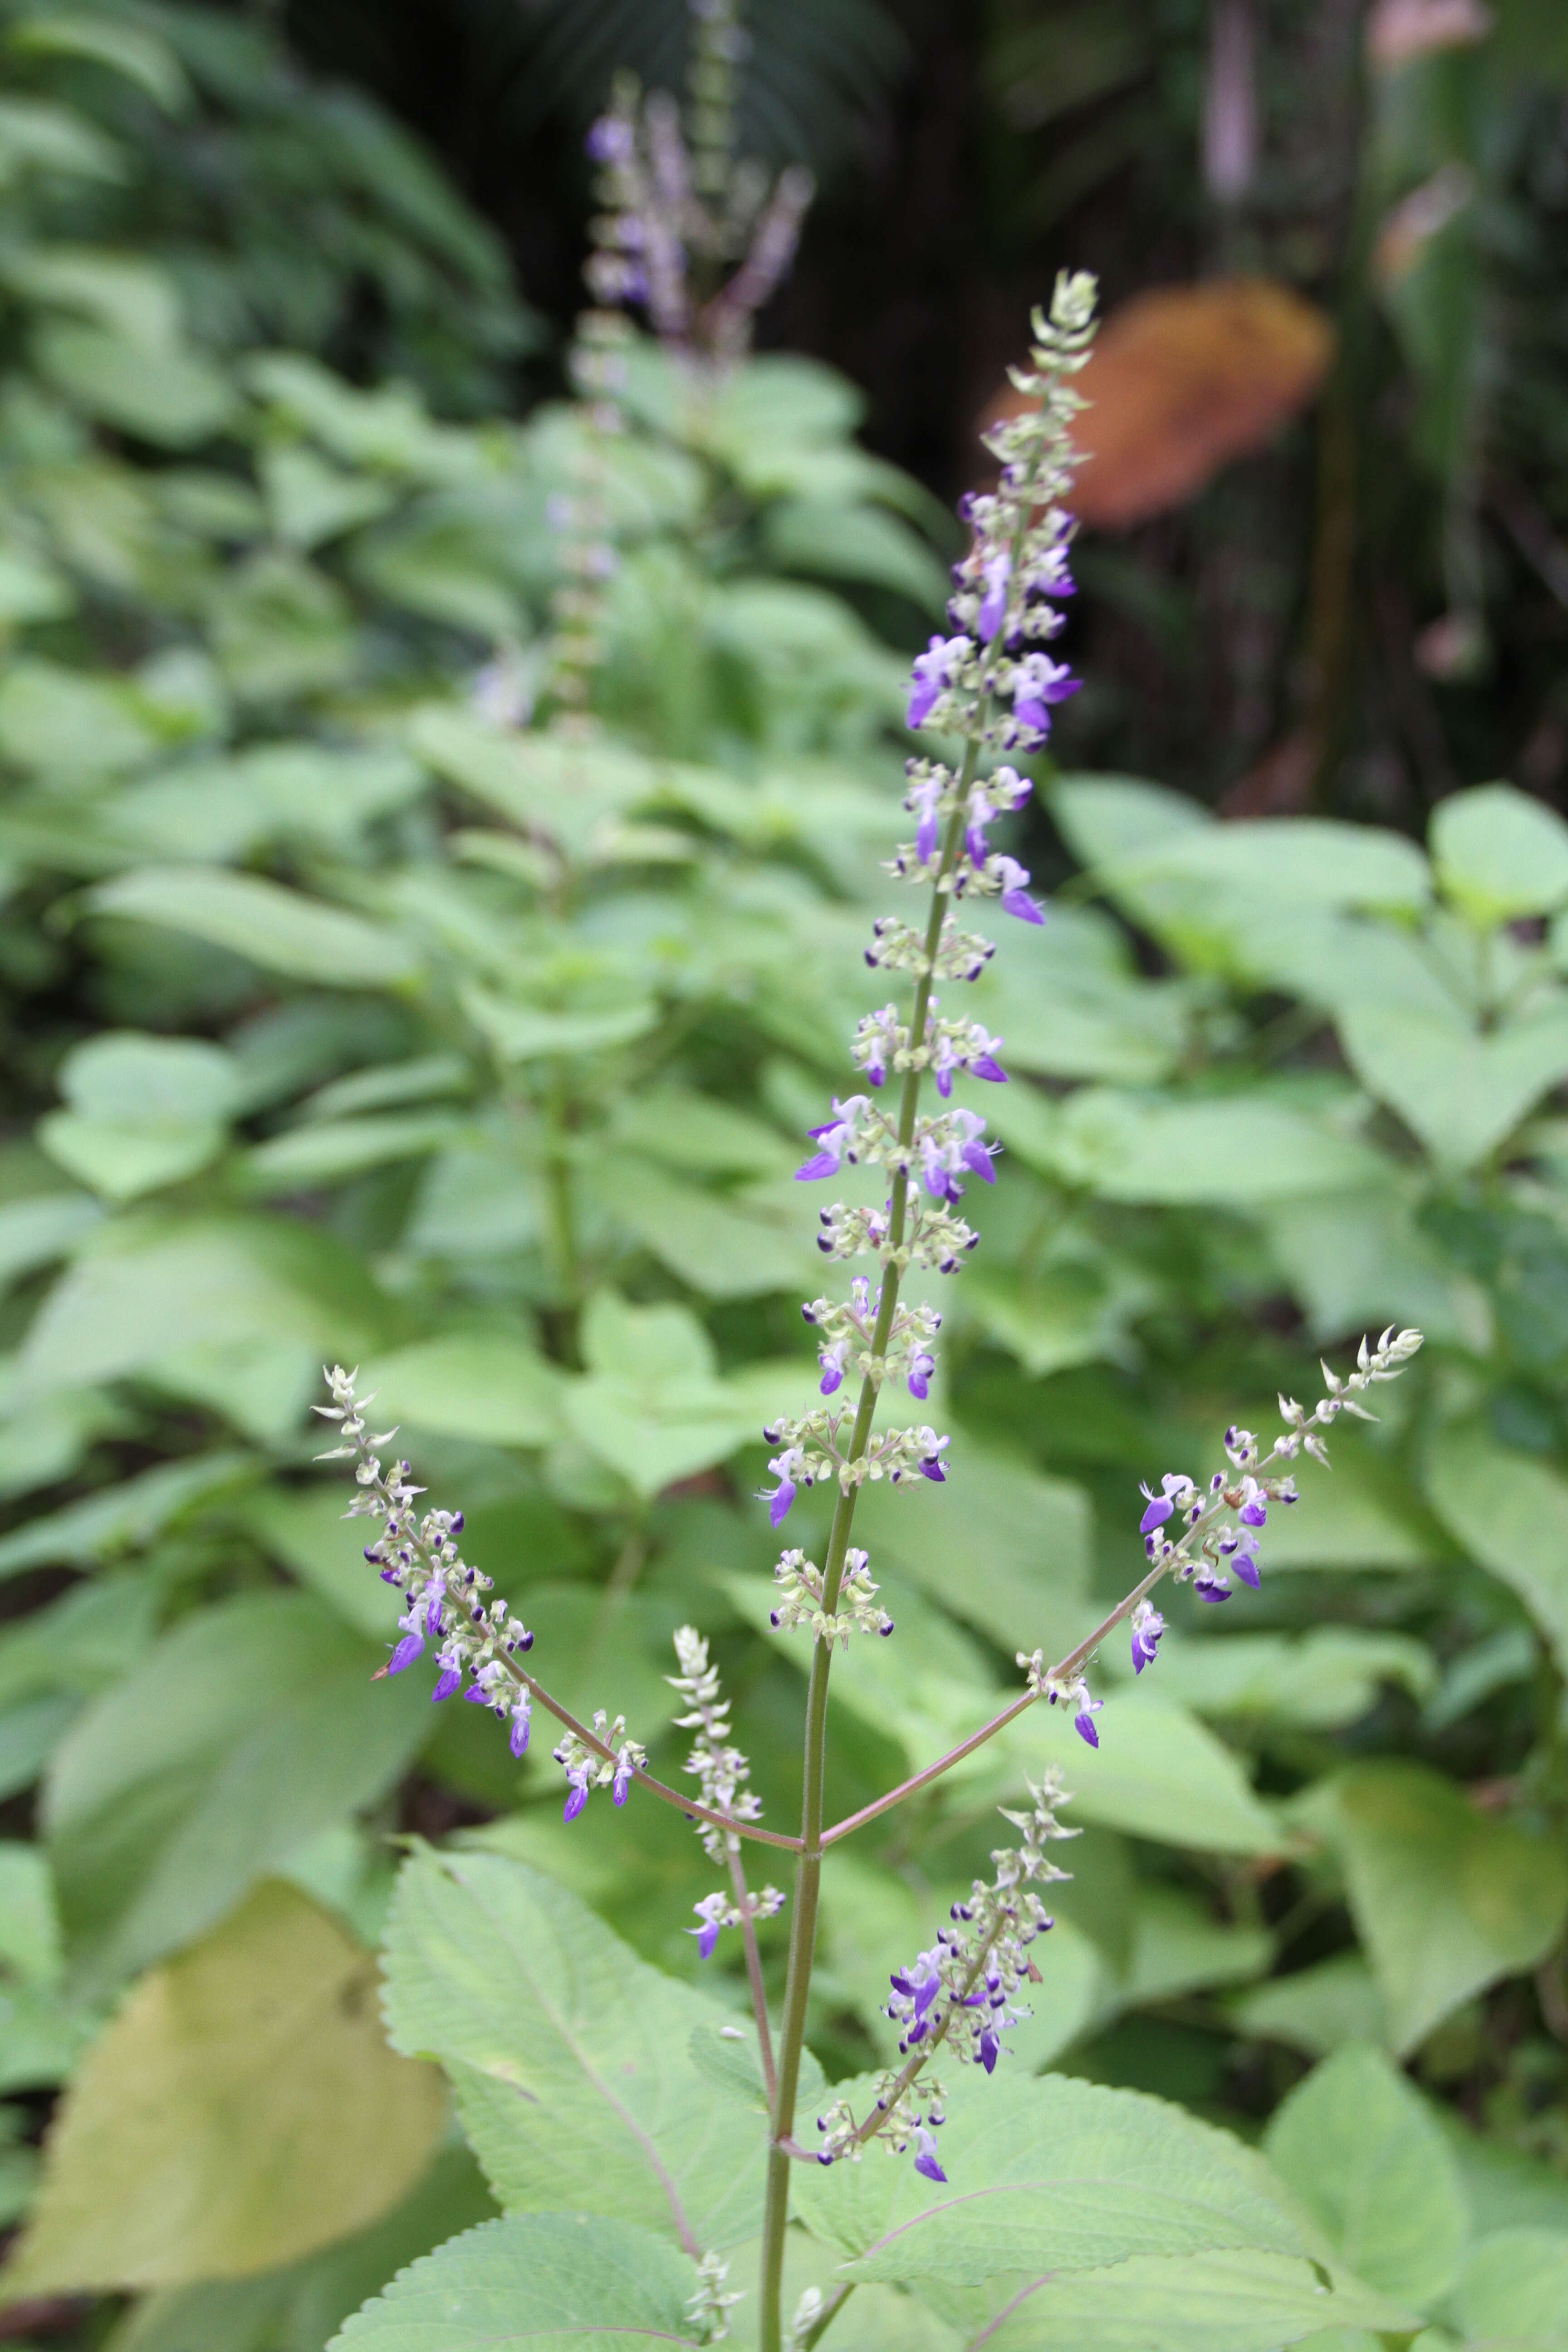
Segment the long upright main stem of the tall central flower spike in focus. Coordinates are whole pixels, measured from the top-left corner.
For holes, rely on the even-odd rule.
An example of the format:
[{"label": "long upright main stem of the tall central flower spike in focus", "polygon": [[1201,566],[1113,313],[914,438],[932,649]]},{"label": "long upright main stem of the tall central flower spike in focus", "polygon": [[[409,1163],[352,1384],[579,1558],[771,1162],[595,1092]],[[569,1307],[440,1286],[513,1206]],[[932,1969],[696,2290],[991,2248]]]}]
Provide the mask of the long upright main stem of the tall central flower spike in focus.
[{"label": "long upright main stem of the tall central flower spike in focus", "polygon": [[[957,800],[952,818],[947,823],[947,837],[943,842],[943,863],[938,868],[936,889],[931,891],[931,917],[926,922],[924,943],[924,971],[914,983],[914,1009],[910,1016],[910,1049],[919,1051],[926,1037],[926,1018],[931,1011],[931,978],[936,971],[936,950],[943,938],[943,920],[950,906],[950,891],[943,889],[952,875],[959,849],[964,847],[964,811],[969,809],[969,788],[976,781],[976,764],[980,750],[971,741],[964,750],[964,767],[957,779]],[[905,1070],[903,1098],[898,1105],[898,1141],[907,1150],[914,1141],[914,1115],[919,1110],[919,1080],[922,1070],[914,1065]],[[884,1362],[889,1338],[893,1331],[893,1312],[898,1308],[898,1251],[903,1249],[905,1221],[910,1209],[910,1178],[900,1169],[893,1176],[893,1195],[889,1202],[889,1256],[882,1270],[882,1301],[877,1305],[877,1327],[872,1334],[872,1357]],[[877,1378],[865,1374],[860,1383],[860,1402],[856,1406],[856,1425],[849,1439],[846,1465],[865,1458],[865,1449],[872,1435],[872,1414],[877,1411]],[[827,1616],[839,1606],[839,1585],[844,1583],[844,1557],[849,1552],[849,1534],[856,1522],[856,1498],[860,1489],[849,1482],[839,1482],[839,1496],[832,1508],[832,1534],[827,1536],[827,1559],[823,1562],[823,1611]],[[783,2025],[778,2037],[778,2096],[773,2100],[773,2145],[769,2147],[769,2185],[766,2206],[762,2218],[762,2336],[759,2352],[780,2352],[783,2345],[783,2251],[785,2251],[785,2227],[790,2223],[790,2157],[783,2140],[795,2133],[795,2098],[799,2093],[799,2058],[806,2042],[806,2004],[811,1999],[811,1964],[816,1957],[816,1910],[823,1884],[823,1783],[827,1773],[827,1675],[832,1668],[832,1642],[818,1639],[811,1651],[811,1684],[806,1689],[806,1776],[802,1795],[802,1853],[795,1865],[795,1905],[790,1919],[790,1973],[785,1978],[785,2006]]]}]

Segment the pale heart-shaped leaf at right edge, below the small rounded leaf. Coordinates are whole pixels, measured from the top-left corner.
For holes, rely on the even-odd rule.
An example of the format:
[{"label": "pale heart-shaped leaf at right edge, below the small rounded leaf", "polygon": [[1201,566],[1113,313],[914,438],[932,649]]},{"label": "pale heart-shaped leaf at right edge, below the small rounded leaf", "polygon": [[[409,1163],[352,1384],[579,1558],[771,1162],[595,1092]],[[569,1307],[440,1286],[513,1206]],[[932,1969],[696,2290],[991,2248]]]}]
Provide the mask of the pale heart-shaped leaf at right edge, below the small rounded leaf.
[{"label": "pale heart-shaped leaf at right edge, below the small rounded leaf", "polygon": [[1439,1162],[1467,1169],[1568,1077],[1568,997],[1486,1037],[1458,1016],[1356,1007],[1340,1018],[1340,1042],[1368,1094]]}]

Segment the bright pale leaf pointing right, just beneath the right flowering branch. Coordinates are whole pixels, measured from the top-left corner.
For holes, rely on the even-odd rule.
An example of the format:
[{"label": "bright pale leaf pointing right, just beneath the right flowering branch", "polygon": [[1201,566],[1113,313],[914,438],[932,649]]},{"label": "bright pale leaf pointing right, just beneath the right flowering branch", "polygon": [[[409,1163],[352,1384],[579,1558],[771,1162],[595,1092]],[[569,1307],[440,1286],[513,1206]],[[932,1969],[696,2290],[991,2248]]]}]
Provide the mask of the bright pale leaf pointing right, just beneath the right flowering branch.
[{"label": "bright pale leaf pointing right, just beneath the right flowering branch", "polygon": [[1185,1708],[1143,1689],[1117,1691],[1095,1726],[1100,1745],[1088,1750],[1072,1719],[1041,1703],[999,1745],[1032,1773],[1044,1762],[1063,1764],[1074,1820],[1199,1853],[1279,1853],[1288,1844],[1229,1748]]}]

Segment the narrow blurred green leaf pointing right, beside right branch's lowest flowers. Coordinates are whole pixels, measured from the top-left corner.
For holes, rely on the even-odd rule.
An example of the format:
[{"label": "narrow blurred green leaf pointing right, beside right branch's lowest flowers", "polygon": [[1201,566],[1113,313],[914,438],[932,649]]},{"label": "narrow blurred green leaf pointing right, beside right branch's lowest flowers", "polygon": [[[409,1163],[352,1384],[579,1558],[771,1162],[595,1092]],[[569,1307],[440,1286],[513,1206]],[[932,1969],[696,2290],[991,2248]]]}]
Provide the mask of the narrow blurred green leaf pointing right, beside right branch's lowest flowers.
[{"label": "narrow blurred green leaf pointing right, beside right branch's lowest flowers", "polygon": [[[1117,1675],[1131,1675],[1121,1642],[1112,1663]],[[1194,1715],[1253,1717],[1312,1731],[1359,1722],[1389,1682],[1410,1698],[1427,1698],[1436,1689],[1432,1651],[1408,1635],[1363,1632],[1356,1625],[1319,1625],[1293,1639],[1276,1632],[1225,1632],[1166,1644],[1159,1656],[1161,1696],[1180,1700]]]}]

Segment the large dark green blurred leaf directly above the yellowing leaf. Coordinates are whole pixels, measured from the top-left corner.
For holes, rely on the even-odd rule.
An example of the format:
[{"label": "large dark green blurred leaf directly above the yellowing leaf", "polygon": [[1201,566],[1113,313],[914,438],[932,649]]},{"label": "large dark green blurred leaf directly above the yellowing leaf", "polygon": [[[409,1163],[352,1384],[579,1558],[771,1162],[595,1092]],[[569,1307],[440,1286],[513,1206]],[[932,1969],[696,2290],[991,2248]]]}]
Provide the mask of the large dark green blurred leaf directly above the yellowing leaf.
[{"label": "large dark green blurred leaf directly above the yellowing leaf", "polygon": [[45,1830],[92,1980],[200,1936],[327,1823],[374,1804],[430,1733],[418,1677],[306,1592],[186,1618],[54,1757]]}]

